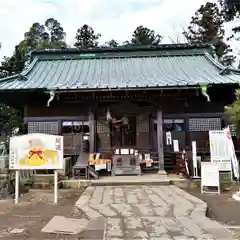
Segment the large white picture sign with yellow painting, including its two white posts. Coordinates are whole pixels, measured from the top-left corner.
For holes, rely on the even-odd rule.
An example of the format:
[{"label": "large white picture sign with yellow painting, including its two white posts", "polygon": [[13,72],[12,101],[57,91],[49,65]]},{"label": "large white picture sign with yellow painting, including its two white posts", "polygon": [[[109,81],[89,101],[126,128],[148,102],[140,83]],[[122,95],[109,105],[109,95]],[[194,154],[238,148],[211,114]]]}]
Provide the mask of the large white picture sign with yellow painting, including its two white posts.
[{"label": "large white picture sign with yellow painting, including its two white posts", "polygon": [[[46,142],[48,145],[44,145]],[[38,149],[40,149],[39,151],[35,150],[36,147],[34,144],[38,147]],[[31,133],[26,135],[13,136],[10,138],[9,148],[9,169],[15,171],[15,204],[19,203],[20,171],[32,171],[37,169],[54,170],[54,203],[57,204],[58,170],[64,169],[63,136],[43,133]],[[49,153],[46,156],[46,151],[52,152],[53,149],[55,152],[54,157],[49,157]],[[45,151],[45,154],[43,151]],[[40,159],[40,163],[37,162],[36,164],[36,160],[34,159],[34,161],[31,160],[32,162],[29,164],[29,159],[31,159],[31,157],[28,156],[31,152],[33,152],[31,157],[34,154],[37,156],[40,154],[40,157],[37,157],[38,160]],[[24,161],[22,162],[22,160]]]}]

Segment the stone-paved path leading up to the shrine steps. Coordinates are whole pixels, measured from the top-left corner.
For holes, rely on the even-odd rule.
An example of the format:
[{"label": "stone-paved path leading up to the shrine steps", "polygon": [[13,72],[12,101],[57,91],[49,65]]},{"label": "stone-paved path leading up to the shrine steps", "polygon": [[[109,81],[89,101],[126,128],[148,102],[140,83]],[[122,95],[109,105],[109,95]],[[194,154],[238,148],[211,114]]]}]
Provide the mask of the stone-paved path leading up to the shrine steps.
[{"label": "stone-paved path leading up to the shrine steps", "polygon": [[205,217],[206,203],[173,185],[88,187],[76,207],[105,221],[105,240],[235,239]]}]

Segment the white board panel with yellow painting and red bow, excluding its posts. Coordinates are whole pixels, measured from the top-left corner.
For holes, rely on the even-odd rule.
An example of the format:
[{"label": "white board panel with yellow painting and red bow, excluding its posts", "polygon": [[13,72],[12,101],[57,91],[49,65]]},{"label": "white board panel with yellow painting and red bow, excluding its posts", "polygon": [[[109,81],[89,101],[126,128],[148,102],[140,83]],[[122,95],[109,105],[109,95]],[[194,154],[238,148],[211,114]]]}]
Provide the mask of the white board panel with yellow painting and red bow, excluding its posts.
[{"label": "white board panel with yellow painting and red bow, excluding its posts", "polygon": [[32,133],[10,138],[9,168],[63,169],[63,136]]}]

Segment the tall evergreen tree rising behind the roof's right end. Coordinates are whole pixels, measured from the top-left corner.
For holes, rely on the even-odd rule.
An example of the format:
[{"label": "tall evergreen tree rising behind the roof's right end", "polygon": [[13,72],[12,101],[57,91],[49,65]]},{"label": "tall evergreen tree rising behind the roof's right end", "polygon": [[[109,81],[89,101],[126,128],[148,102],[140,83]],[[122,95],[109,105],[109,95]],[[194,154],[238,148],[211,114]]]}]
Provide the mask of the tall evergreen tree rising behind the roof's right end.
[{"label": "tall evergreen tree rising behind the roof's right end", "polygon": [[232,49],[224,42],[224,18],[216,3],[207,2],[197,10],[183,35],[190,43],[209,43],[215,47],[218,60],[232,65],[235,57]]}]

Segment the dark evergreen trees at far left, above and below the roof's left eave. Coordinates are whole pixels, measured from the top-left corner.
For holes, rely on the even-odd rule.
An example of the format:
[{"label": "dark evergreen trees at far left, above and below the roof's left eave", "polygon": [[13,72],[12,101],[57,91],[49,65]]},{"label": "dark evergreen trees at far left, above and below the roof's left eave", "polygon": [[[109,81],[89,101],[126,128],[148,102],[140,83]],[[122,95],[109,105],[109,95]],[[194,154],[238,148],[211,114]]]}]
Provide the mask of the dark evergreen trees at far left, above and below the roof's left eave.
[{"label": "dark evergreen trees at far left, above and below the roof's left eave", "polygon": [[[33,23],[29,31],[24,34],[24,39],[15,46],[13,55],[3,58],[0,66],[0,78],[21,73],[26,55],[30,51],[65,47],[65,35],[61,24],[53,18],[47,19],[45,25]],[[9,136],[14,128],[19,127],[22,127],[20,112],[11,106],[0,103],[0,134]]]}]

